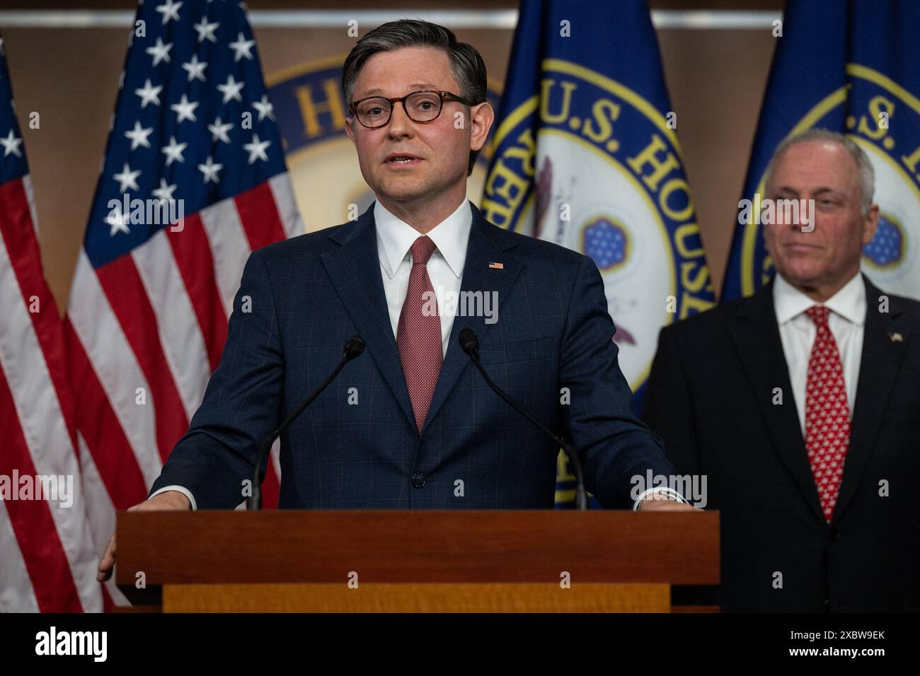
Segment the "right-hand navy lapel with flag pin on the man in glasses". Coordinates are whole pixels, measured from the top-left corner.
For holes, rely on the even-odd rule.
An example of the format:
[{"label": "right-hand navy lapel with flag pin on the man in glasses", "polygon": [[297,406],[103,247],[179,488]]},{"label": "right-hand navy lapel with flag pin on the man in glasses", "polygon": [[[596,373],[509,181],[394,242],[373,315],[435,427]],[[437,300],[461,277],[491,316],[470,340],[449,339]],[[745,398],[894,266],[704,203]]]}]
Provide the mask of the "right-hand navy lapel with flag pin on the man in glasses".
[{"label": "right-hand navy lapel with flag pin on the man in glasses", "polygon": [[[500,316],[500,304],[507,297],[508,291],[517,279],[522,264],[516,258],[504,254],[507,249],[516,246],[512,236],[500,227],[486,221],[475,204],[471,203],[470,206],[473,209],[473,224],[470,228],[469,244],[466,247],[466,261],[460,291],[461,293],[466,291],[496,292],[499,301],[497,310],[499,314],[496,316]],[[502,263],[503,269],[490,269],[489,263],[494,262]],[[486,323],[484,316],[457,315],[454,317],[454,326],[451,327],[451,338],[447,344],[441,375],[438,377],[438,384],[431,397],[431,407],[428,409],[422,432],[428,428],[431,420],[437,415],[447,396],[454,389],[454,385],[457,384],[460,374],[469,363],[469,357],[460,349],[457,342],[460,331],[469,327],[482,341],[490,326],[492,325]]]}]

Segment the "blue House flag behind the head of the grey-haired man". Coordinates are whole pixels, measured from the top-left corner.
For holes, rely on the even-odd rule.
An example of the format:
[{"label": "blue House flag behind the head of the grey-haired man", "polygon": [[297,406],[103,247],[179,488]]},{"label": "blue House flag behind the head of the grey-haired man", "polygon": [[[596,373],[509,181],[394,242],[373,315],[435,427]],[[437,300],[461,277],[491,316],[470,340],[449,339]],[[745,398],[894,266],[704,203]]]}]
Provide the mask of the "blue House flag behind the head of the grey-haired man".
[{"label": "blue House flag behind the head of the grey-haired man", "polygon": [[[885,291],[920,297],[920,3],[790,0],[777,28],[743,198],[764,194],[766,165],[787,136],[810,128],[847,134],[875,169],[881,211],[863,271]],[[736,225],[723,300],[773,276],[761,227],[748,221]]]}]

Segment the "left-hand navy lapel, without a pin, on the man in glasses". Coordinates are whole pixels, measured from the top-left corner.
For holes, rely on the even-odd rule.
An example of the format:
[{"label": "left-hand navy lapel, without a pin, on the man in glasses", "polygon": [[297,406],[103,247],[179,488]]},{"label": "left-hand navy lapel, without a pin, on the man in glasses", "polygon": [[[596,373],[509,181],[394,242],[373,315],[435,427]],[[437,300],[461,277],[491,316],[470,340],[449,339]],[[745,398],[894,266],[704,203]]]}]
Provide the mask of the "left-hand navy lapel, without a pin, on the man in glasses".
[{"label": "left-hand navy lapel, without a pin, on the man in glasses", "polygon": [[357,221],[334,230],[329,237],[340,245],[321,256],[329,279],[339,293],[351,322],[364,338],[367,350],[386,384],[415,428],[415,415],[386,306],[377,253],[374,206],[363,212]]}]

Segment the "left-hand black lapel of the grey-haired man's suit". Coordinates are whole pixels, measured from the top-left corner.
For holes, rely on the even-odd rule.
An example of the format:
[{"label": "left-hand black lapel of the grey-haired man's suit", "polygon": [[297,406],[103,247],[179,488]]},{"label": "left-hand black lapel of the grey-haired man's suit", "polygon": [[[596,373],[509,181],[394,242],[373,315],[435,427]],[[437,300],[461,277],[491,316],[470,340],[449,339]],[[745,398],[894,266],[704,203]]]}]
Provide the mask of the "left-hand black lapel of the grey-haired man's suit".
[{"label": "left-hand black lapel of the grey-haired man's suit", "polygon": [[[776,453],[795,478],[815,516],[824,521],[818,489],[811,476],[808,452],[802,438],[783,344],[779,338],[772,281],[739,306],[730,326],[739,358],[751,380],[754,398],[773,439]],[[776,387],[782,390],[782,405],[773,403]]]}]

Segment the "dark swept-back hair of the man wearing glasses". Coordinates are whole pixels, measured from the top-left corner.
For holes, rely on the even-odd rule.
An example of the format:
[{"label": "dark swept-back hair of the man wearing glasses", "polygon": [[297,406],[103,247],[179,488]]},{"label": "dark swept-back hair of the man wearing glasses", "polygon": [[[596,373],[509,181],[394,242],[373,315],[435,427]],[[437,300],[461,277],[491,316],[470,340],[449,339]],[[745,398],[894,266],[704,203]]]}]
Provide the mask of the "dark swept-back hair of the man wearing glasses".
[{"label": "dark swept-back hair of the man wearing glasses", "polygon": [[[467,42],[458,42],[452,30],[438,24],[420,19],[400,19],[381,24],[351,48],[342,67],[342,91],[347,105],[351,105],[354,83],[364,63],[374,54],[403,47],[432,47],[446,52],[454,78],[460,86],[457,93],[474,105],[486,100],[486,63],[475,47]],[[473,173],[477,155],[479,151],[470,151],[466,176]]]}]

